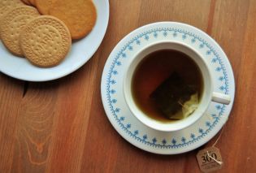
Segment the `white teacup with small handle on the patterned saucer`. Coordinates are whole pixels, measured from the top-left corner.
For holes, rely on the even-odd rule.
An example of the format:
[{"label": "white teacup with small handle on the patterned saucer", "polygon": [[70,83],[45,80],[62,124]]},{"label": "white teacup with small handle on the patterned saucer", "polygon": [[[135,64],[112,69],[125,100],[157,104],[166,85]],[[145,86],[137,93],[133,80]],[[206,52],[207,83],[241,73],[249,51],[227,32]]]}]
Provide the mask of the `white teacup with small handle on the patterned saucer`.
[{"label": "white teacup with small handle on the patterned saucer", "polygon": [[[197,107],[197,110],[195,110],[192,115],[189,115],[188,118],[176,120],[170,123],[162,123],[158,120],[150,118],[150,116],[145,115],[145,113],[140,110],[140,108],[135,104],[133,100],[133,73],[136,70],[137,65],[141,62],[143,58],[146,57],[146,55],[153,53],[157,50],[178,50],[180,52],[183,52],[184,54],[189,55],[190,58],[193,58],[193,61],[197,63],[197,66],[202,72],[203,91],[201,102]],[[132,111],[132,114],[135,115],[137,119],[141,121],[141,123],[144,123],[146,126],[154,128],[158,131],[174,132],[183,128],[187,128],[195,123],[198,119],[200,119],[202,115],[204,115],[208,106],[210,105],[210,102],[229,104],[231,99],[228,95],[214,92],[210,65],[206,62],[206,59],[198,54],[197,50],[194,50],[189,45],[184,45],[183,43],[177,41],[159,41],[157,43],[146,46],[135,56],[135,58],[132,59],[131,63],[129,64],[128,71],[126,71],[126,75],[124,77],[124,97],[129,109]]]}]

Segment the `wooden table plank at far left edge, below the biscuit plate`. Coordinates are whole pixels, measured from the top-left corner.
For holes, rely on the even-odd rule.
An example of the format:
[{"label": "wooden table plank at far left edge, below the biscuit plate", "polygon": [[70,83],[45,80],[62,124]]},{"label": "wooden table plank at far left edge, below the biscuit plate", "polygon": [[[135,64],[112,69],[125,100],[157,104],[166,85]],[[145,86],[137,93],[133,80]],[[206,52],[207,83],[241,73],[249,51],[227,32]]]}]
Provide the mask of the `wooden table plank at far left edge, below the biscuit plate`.
[{"label": "wooden table plank at far left edge, below the biscuit plate", "polygon": [[11,171],[24,82],[0,75],[0,172]]}]

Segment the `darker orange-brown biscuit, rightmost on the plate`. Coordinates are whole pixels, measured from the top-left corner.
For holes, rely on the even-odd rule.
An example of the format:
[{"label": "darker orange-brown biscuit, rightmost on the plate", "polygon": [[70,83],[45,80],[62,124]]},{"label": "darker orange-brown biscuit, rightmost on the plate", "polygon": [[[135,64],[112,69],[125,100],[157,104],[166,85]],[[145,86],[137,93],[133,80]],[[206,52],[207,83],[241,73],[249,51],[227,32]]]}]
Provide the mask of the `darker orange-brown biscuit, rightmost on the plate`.
[{"label": "darker orange-brown biscuit, rightmost on the plate", "polygon": [[97,19],[97,11],[91,0],[57,0],[49,14],[67,25],[72,39],[85,37],[93,29]]}]

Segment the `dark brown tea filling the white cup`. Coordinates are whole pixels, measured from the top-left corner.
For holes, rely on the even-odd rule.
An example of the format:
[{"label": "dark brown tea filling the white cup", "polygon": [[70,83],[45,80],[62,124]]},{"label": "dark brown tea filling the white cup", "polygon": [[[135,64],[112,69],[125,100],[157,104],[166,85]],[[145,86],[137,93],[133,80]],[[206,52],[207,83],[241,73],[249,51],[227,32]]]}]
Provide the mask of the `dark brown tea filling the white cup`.
[{"label": "dark brown tea filling the white cup", "polygon": [[[202,73],[187,54],[158,50],[147,55],[132,76],[132,97],[150,118],[170,122],[194,93],[202,96]],[[197,100],[198,100],[197,99]]]}]

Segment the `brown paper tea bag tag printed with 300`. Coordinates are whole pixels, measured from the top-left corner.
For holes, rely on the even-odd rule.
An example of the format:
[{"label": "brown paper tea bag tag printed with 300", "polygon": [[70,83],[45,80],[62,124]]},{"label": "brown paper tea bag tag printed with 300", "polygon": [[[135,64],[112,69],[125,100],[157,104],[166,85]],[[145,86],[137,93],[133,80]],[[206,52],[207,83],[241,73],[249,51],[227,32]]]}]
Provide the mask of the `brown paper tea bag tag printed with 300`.
[{"label": "brown paper tea bag tag printed with 300", "polygon": [[214,146],[201,149],[197,154],[197,162],[202,172],[217,171],[223,166],[219,149]]}]

